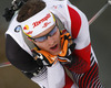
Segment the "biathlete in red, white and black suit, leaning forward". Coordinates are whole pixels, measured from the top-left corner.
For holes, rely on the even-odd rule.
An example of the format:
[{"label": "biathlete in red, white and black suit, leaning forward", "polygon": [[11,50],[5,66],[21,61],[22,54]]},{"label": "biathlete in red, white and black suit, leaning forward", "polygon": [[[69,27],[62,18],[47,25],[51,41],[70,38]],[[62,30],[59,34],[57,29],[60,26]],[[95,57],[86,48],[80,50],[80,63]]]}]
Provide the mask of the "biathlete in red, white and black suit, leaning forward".
[{"label": "biathlete in red, white and black suit, leaning forward", "polygon": [[28,0],[14,14],[6,35],[9,62],[41,88],[103,88],[88,20],[69,1]]}]

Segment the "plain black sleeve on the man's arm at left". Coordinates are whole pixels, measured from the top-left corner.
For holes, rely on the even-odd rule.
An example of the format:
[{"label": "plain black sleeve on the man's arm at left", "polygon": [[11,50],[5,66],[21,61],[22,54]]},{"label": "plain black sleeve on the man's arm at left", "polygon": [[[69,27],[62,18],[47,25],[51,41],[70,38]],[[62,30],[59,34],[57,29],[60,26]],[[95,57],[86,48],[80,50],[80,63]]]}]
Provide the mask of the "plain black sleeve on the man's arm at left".
[{"label": "plain black sleeve on the man's arm at left", "polygon": [[38,68],[33,57],[22,50],[10,35],[6,38],[6,54],[9,62],[20,70],[31,73]]}]

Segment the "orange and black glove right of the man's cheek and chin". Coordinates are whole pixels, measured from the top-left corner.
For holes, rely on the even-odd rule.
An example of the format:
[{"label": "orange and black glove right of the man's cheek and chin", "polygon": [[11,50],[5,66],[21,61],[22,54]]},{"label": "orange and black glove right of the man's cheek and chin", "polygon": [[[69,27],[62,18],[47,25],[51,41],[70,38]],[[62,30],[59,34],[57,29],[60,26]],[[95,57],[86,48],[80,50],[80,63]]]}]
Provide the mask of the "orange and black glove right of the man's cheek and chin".
[{"label": "orange and black glove right of the man's cheek and chin", "polygon": [[72,52],[74,51],[75,47],[75,43],[73,43],[72,41],[73,38],[71,38],[69,33],[61,35],[62,51],[58,56],[59,56],[59,62],[61,62],[62,64],[72,62]]}]

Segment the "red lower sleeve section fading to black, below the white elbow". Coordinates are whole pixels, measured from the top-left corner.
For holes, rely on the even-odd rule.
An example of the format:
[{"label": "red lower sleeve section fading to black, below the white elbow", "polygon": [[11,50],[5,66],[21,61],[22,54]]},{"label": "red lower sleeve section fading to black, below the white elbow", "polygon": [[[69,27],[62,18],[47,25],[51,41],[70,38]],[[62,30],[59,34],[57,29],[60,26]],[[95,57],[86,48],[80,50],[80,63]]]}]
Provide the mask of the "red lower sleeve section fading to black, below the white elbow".
[{"label": "red lower sleeve section fading to black, below the white elbow", "polygon": [[73,52],[73,64],[71,66],[65,65],[65,67],[77,74],[83,74],[90,69],[90,54],[91,54],[91,44],[85,48],[75,50]]}]

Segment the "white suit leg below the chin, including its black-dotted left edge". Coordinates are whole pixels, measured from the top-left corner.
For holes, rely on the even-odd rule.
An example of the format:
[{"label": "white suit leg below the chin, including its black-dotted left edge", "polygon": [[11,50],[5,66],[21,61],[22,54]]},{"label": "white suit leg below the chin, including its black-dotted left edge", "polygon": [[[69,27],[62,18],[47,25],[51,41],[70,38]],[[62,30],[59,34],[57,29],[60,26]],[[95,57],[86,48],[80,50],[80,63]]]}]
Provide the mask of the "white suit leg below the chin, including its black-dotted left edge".
[{"label": "white suit leg below the chin, including its black-dotted left edge", "polygon": [[47,73],[42,76],[34,76],[31,79],[39,84],[41,88],[63,88],[65,85],[64,69],[59,62],[57,62],[52,67],[47,67]]}]

